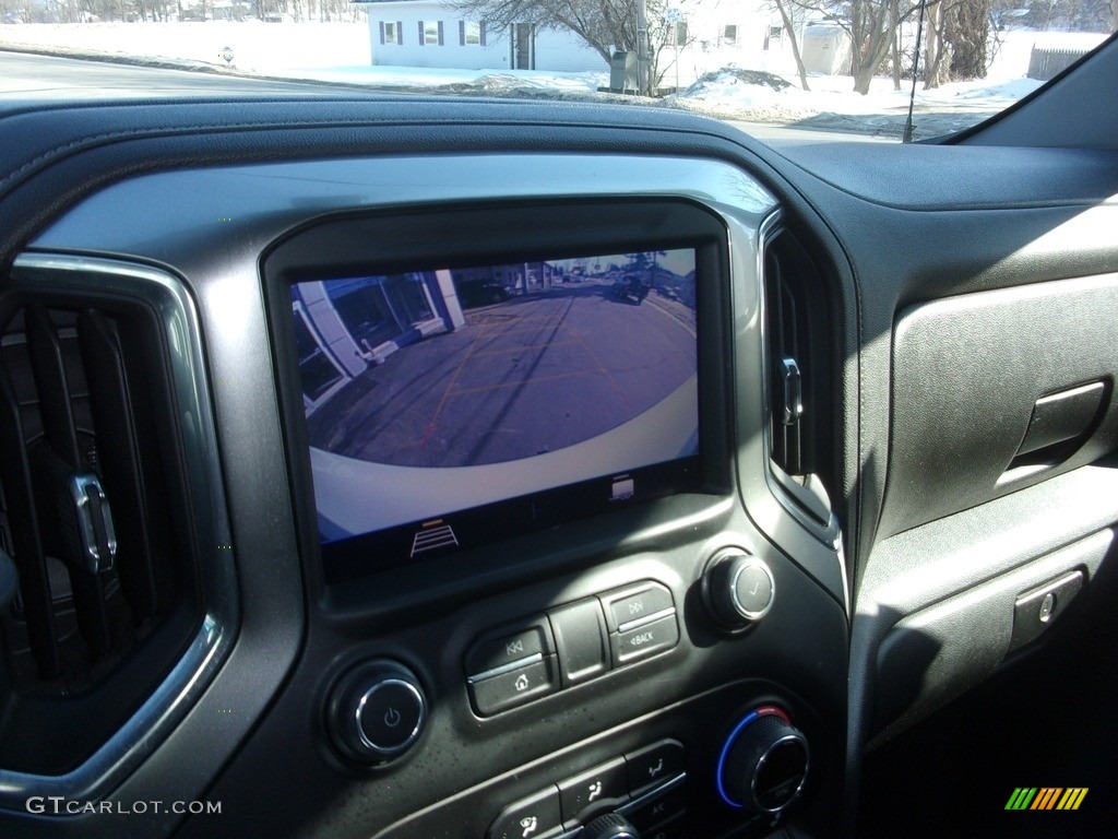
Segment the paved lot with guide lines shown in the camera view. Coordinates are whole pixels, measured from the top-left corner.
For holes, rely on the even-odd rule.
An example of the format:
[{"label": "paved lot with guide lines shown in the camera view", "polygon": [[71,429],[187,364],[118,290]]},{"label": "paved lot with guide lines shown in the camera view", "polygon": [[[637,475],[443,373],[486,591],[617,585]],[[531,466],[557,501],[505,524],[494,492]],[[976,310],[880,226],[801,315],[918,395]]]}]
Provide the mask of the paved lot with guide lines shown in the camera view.
[{"label": "paved lot with guide lines shown in the camera view", "polygon": [[585,282],[468,312],[358,376],[307,430],[313,446],[375,463],[498,463],[597,436],[694,375],[689,307]]}]

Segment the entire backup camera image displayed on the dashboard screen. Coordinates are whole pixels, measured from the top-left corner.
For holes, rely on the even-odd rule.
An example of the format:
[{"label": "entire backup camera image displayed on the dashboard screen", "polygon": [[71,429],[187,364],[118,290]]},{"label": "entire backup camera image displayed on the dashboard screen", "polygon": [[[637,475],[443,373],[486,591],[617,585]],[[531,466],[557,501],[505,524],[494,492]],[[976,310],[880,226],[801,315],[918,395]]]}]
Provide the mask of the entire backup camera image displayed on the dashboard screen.
[{"label": "entire backup camera image displayed on the dashboard screen", "polygon": [[571,487],[679,491],[641,470],[698,454],[692,248],[302,282],[291,304],[323,543],[510,499],[593,512]]}]

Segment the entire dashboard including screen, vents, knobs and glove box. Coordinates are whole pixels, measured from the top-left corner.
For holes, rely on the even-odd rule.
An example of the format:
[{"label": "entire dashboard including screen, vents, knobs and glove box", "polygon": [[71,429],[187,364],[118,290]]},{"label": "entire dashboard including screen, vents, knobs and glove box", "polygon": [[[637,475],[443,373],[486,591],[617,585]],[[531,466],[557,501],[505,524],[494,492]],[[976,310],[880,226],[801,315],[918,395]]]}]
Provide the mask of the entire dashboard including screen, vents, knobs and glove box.
[{"label": "entire dashboard including screen, vents, knobs and glove box", "polygon": [[[1112,148],[340,95],[0,141],[4,836],[916,836],[874,767],[1108,614]],[[1093,835],[1077,766],[984,818]]]}]

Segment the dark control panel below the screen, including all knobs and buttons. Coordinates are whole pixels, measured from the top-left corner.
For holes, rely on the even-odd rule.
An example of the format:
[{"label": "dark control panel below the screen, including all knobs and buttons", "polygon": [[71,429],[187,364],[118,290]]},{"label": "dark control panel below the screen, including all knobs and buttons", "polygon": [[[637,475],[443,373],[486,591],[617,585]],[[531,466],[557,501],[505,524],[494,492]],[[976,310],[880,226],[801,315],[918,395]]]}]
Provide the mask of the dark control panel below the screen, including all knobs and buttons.
[{"label": "dark control panel below the screen, including all knobs and buttons", "polygon": [[[331,760],[379,807],[427,802],[383,839],[811,828],[836,805],[843,631],[818,586],[743,539],[540,578],[340,664],[323,691]],[[439,650],[437,666],[414,649]]]}]

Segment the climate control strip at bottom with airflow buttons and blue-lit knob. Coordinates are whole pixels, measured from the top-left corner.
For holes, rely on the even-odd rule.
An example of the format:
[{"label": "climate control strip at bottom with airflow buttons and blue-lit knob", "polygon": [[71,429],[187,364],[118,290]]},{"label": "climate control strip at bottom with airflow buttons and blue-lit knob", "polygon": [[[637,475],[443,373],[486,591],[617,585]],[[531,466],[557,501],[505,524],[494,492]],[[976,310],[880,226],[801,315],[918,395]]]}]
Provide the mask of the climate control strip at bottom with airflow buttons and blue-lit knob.
[{"label": "climate control strip at bottom with airflow buttons and blue-lit knob", "polygon": [[[728,692],[712,695],[692,710],[717,719],[727,699]],[[783,705],[761,703],[739,714],[729,726],[692,726],[647,744],[636,739],[623,753],[606,744],[580,750],[565,773],[525,766],[521,772],[537,779],[537,789],[502,807],[485,839],[767,835],[796,809],[818,767],[812,767],[802,720]],[[803,722],[814,727],[809,716]]]}]

